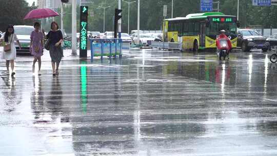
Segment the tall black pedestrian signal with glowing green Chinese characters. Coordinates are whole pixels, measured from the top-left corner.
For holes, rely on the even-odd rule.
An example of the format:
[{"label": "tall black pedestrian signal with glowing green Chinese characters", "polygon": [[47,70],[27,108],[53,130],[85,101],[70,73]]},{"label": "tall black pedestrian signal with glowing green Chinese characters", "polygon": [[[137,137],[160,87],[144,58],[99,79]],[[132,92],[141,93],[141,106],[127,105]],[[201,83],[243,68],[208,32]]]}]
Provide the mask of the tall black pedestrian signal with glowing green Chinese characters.
[{"label": "tall black pedestrian signal with glowing green Chinese characters", "polygon": [[88,7],[81,6],[80,17],[80,57],[87,57],[88,45]]}]

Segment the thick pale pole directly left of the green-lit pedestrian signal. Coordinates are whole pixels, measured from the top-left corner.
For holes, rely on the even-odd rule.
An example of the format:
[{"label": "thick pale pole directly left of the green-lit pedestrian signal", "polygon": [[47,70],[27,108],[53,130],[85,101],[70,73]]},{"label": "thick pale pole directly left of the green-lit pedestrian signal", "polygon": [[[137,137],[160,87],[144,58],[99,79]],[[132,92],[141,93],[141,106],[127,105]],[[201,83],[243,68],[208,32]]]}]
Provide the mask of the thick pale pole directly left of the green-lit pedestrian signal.
[{"label": "thick pale pole directly left of the green-lit pedestrian signal", "polygon": [[77,5],[76,5],[76,0],[72,0],[72,38],[71,38],[71,41],[72,41],[72,52],[71,54],[72,55],[77,55],[77,49],[76,49],[76,44],[77,44],[77,41],[76,41],[76,33],[77,33],[77,17],[76,17],[76,9],[77,9]]}]

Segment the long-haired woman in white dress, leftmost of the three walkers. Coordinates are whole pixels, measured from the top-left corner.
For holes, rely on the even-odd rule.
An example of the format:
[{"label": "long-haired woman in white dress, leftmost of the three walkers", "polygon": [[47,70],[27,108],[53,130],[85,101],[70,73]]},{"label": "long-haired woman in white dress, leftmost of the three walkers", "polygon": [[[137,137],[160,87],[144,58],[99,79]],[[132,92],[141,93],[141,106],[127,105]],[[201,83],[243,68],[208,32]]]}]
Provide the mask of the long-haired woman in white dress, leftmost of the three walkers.
[{"label": "long-haired woman in white dress, leftmost of the three walkers", "polygon": [[2,35],[0,38],[0,43],[5,42],[4,45],[4,51],[2,55],[2,59],[6,60],[6,67],[7,67],[7,72],[9,73],[9,66],[11,64],[11,76],[14,77],[15,72],[14,72],[14,60],[16,59],[16,49],[15,49],[15,44],[14,41],[17,42],[19,49],[21,49],[21,45],[17,39],[16,34],[14,33],[14,28],[12,25],[8,25],[6,32]]}]

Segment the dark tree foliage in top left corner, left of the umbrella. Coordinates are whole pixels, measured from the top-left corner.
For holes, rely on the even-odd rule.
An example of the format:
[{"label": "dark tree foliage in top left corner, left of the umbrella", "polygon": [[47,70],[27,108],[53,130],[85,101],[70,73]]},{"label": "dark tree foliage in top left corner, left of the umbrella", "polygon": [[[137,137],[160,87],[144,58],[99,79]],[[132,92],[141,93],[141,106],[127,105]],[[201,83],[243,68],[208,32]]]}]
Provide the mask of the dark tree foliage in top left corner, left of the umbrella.
[{"label": "dark tree foliage in top left corner, left of the umbrella", "polygon": [[32,20],[24,20],[25,15],[36,8],[28,6],[25,0],[0,0],[0,30],[5,31],[8,24],[32,25]]}]

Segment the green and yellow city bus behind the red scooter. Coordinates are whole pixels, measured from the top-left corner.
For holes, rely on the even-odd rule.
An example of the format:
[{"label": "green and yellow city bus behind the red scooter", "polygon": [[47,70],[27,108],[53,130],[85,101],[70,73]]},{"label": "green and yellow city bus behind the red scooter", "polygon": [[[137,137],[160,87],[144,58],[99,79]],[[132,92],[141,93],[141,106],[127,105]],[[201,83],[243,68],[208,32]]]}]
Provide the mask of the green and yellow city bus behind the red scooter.
[{"label": "green and yellow city bus behind the red scooter", "polygon": [[236,16],[220,12],[188,14],[186,17],[165,19],[163,23],[163,39],[165,42],[183,43],[182,49],[216,48],[216,35],[224,29],[231,36],[232,47],[236,47]]}]

